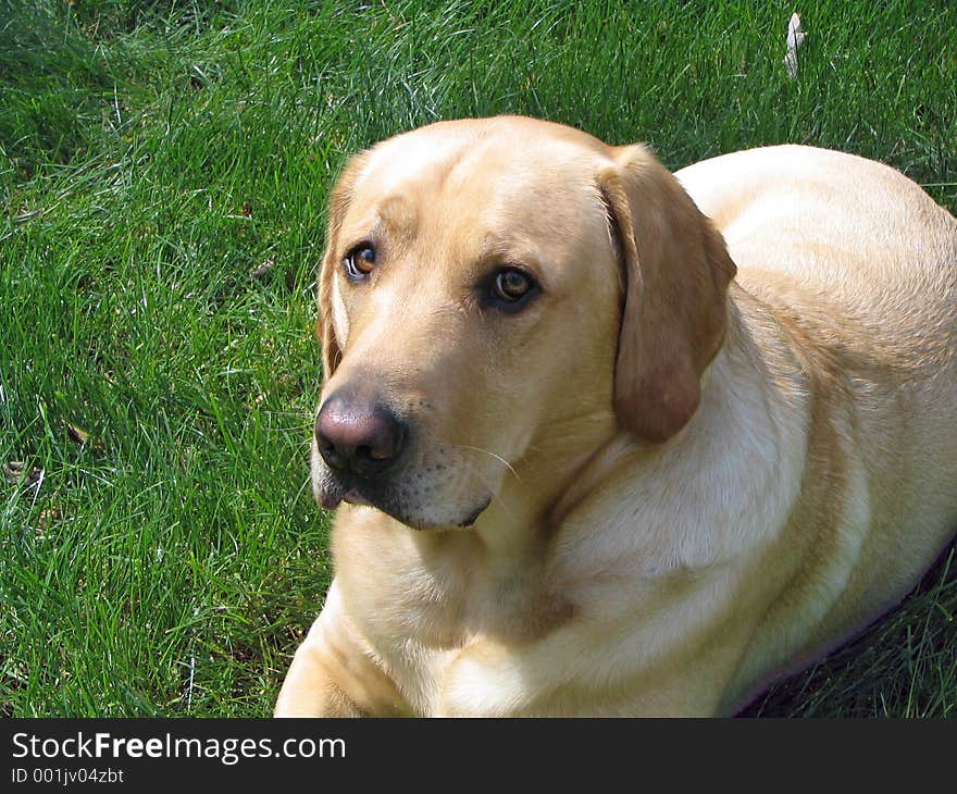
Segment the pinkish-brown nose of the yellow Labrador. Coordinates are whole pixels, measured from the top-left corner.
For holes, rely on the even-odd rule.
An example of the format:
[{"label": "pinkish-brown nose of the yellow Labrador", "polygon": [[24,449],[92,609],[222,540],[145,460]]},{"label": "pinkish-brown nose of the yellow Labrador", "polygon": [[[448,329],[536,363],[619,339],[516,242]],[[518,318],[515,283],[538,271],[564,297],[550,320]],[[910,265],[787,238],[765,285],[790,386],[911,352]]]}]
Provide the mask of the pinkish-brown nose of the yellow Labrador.
[{"label": "pinkish-brown nose of the yellow Labrador", "polygon": [[369,475],[396,461],[406,427],[381,406],[333,395],[315,418],[315,441],[331,469]]}]

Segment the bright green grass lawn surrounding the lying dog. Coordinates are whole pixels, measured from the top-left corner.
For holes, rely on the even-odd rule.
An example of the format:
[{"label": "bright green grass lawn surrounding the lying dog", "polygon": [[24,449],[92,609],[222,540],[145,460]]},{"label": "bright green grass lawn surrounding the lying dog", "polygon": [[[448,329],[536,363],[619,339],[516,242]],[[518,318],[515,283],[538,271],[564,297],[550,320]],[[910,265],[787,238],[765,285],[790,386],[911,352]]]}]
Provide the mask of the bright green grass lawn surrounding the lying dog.
[{"label": "bright green grass lawn surrounding the lying dog", "polygon": [[[957,4],[808,5],[791,80],[781,2],[0,0],[0,710],[270,711],[330,576],[313,280],[359,147],[499,112],[672,168],[798,141],[955,210]],[[955,569],[749,712],[957,714]]]}]

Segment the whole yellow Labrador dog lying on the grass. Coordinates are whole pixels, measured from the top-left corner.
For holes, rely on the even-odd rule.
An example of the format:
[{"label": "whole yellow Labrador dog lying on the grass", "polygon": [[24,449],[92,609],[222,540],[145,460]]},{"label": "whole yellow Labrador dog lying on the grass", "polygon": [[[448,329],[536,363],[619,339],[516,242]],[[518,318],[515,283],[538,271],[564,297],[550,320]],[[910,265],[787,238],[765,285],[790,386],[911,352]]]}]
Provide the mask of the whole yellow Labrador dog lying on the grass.
[{"label": "whole yellow Labrador dog lying on the grass", "polygon": [[443,122],[327,245],[345,504],[277,715],[731,714],[957,529],[957,222],[885,165]]}]

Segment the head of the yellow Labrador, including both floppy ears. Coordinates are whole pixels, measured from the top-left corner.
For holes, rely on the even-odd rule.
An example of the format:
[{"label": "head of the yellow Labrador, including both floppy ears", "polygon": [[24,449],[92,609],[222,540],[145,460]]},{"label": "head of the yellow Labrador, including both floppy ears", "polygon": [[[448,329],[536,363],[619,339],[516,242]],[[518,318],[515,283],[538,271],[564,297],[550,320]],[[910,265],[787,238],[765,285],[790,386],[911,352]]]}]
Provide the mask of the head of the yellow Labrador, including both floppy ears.
[{"label": "head of the yellow Labrador, including both floppy ears", "polygon": [[470,525],[510,472],[548,482],[617,427],[678,433],[734,275],[644,147],[507,116],[353,158],[326,244],[313,489],[418,529]]}]

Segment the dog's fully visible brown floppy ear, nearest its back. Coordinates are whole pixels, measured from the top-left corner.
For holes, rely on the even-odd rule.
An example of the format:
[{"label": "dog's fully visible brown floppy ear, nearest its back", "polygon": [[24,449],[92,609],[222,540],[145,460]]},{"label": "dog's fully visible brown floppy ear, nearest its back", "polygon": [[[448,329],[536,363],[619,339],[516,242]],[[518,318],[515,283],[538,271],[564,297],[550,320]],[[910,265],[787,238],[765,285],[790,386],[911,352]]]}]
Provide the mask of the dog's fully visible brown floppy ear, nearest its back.
[{"label": "dog's fully visible brown floppy ear, nearest its back", "polygon": [[636,437],[663,442],[697,410],[724,339],[736,268],[724,239],[644,146],[611,150],[599,175],[625,277],[614,410]]}]

